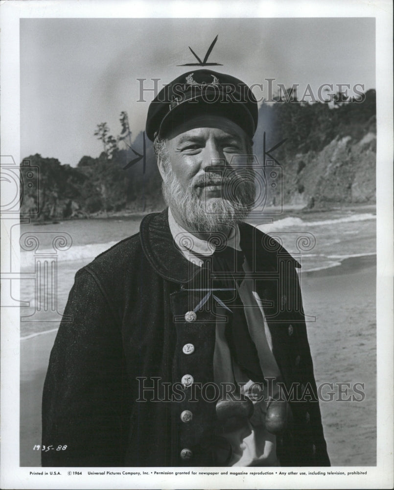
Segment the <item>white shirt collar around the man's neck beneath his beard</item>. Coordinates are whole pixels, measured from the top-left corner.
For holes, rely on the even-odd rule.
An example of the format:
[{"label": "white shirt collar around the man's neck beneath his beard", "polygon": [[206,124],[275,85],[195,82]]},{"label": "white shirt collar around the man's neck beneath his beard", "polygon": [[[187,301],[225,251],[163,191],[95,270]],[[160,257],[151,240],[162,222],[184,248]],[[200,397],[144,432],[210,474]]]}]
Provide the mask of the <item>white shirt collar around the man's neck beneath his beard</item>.
[{"label": "white shirt collar around the man's neck beneath his beard", "polygon": [[[209,256],[215,251],[215,245],[197,238],[192,233],[185,230],[181,226],[171,213],[171,209],[168,208],[168,224],[170,226],[170,231],[172,237],[174,238],[175,245],[181,250],[187,260],[193,262],[199,266],[203,264],[202,260],[197,258],[194,254]],[[232,228],[231,234],[227,237],[227,245],[235,248],[235,250],[241,250],[239,245],[239,228],[235,225]]]}]

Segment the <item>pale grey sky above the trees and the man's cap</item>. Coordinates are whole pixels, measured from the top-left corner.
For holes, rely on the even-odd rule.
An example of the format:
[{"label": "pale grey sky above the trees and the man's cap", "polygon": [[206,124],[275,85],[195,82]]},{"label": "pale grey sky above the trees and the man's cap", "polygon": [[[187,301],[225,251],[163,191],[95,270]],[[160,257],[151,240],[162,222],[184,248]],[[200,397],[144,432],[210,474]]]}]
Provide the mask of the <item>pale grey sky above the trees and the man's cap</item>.
[{"label": "pale grey sky above the trees and the man's cap", "polygon": [[[139,18],[21,19],[21,157],[40,153],[76,166],[97,157],[98,123],[120,133],[120,112],[132,138],[144,129],[152,91],[139,101],[141,82],[153,88],[191,69],[190,46],[200,58],[218,35],[209,62],[268,97],[267,78],[286,87],[309,83],[375,88],[373,18]],[[359,88],[358,88],[359,90]]]}]

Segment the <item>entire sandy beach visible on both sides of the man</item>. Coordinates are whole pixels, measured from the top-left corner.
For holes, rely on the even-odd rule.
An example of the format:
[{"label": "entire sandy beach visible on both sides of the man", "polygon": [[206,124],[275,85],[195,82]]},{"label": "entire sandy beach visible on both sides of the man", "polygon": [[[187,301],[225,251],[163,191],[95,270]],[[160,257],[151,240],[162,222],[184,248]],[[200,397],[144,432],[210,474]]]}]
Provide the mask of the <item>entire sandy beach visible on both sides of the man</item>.
[{"label": "entire sandy beach visible on both sides of the man", "polygon": [[[332,383],[332,401],[321,401],[324,434],[332,466],[376,464],[376,269],[373,260],[301,274],[316,382]],[[56,324],[48,324],[49,329]],[[41,394],[56,332],[21,341],[21,466],[40,466]],[[363,383],[363,401],[339,401]],[[340,395],[338,383],[343,385]],[[360,389],[360,385],[359,385]],[[327,392],[322,391],[325,398]],[[361,398],[358,395],[358,398]]]}]

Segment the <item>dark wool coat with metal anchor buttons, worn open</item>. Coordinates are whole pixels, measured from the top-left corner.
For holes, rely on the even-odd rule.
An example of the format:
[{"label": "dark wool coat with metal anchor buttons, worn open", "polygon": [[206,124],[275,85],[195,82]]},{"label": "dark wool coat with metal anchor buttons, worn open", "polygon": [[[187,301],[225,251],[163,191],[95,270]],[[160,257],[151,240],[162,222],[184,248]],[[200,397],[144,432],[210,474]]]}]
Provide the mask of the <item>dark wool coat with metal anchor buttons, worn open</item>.
[{"label": "dark wool coat with metal anchor buttons, worn open", "polygon": [[[240,235],[287,391],[308,394],[290,401],[292,422],[277,437],[280,463],[328,466],[295,269],[300,266],[256,228],[240,224]],[[199,270],[176,249],[164,211],[146,216],[139,234],[76,273],[45,380],[42,443],[55,450],[42,453],[43,466],[225,464],[227,448],[223,460],[215,451],[223,443],[215,436],[215,402],[199,392],[195,401],[180,402],[169,401],[163,390],[159,397],[141,392],[154,383],[179,383],[186,373],[202,385],[213,381],[213,313],[197,311],[195,321],[185,321],[200,299],[188,291]],[[194,345],[191,355],[183,352],[186,343]],[[180,417],[184,410],[193,414],[187,423]],[[57,451],[60,444],[67,448]],[[192,453],[186,461],[184,448]]]}]

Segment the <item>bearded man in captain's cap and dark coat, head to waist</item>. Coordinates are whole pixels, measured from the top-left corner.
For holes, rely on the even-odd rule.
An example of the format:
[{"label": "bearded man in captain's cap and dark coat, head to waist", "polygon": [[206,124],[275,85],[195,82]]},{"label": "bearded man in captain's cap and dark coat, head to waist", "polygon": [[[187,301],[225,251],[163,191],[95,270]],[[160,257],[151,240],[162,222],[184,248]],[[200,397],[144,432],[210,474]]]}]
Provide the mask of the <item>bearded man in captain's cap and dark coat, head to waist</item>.
[{"label": "bearded man in captain's cap and dark coat, head to waist", "polygon": [[168,208],[75,276],[43,394],[43,444],[67,448],[43,466],[329,465],[300,265],[244,222],[256,125],[209,70],[150,104]]}]

